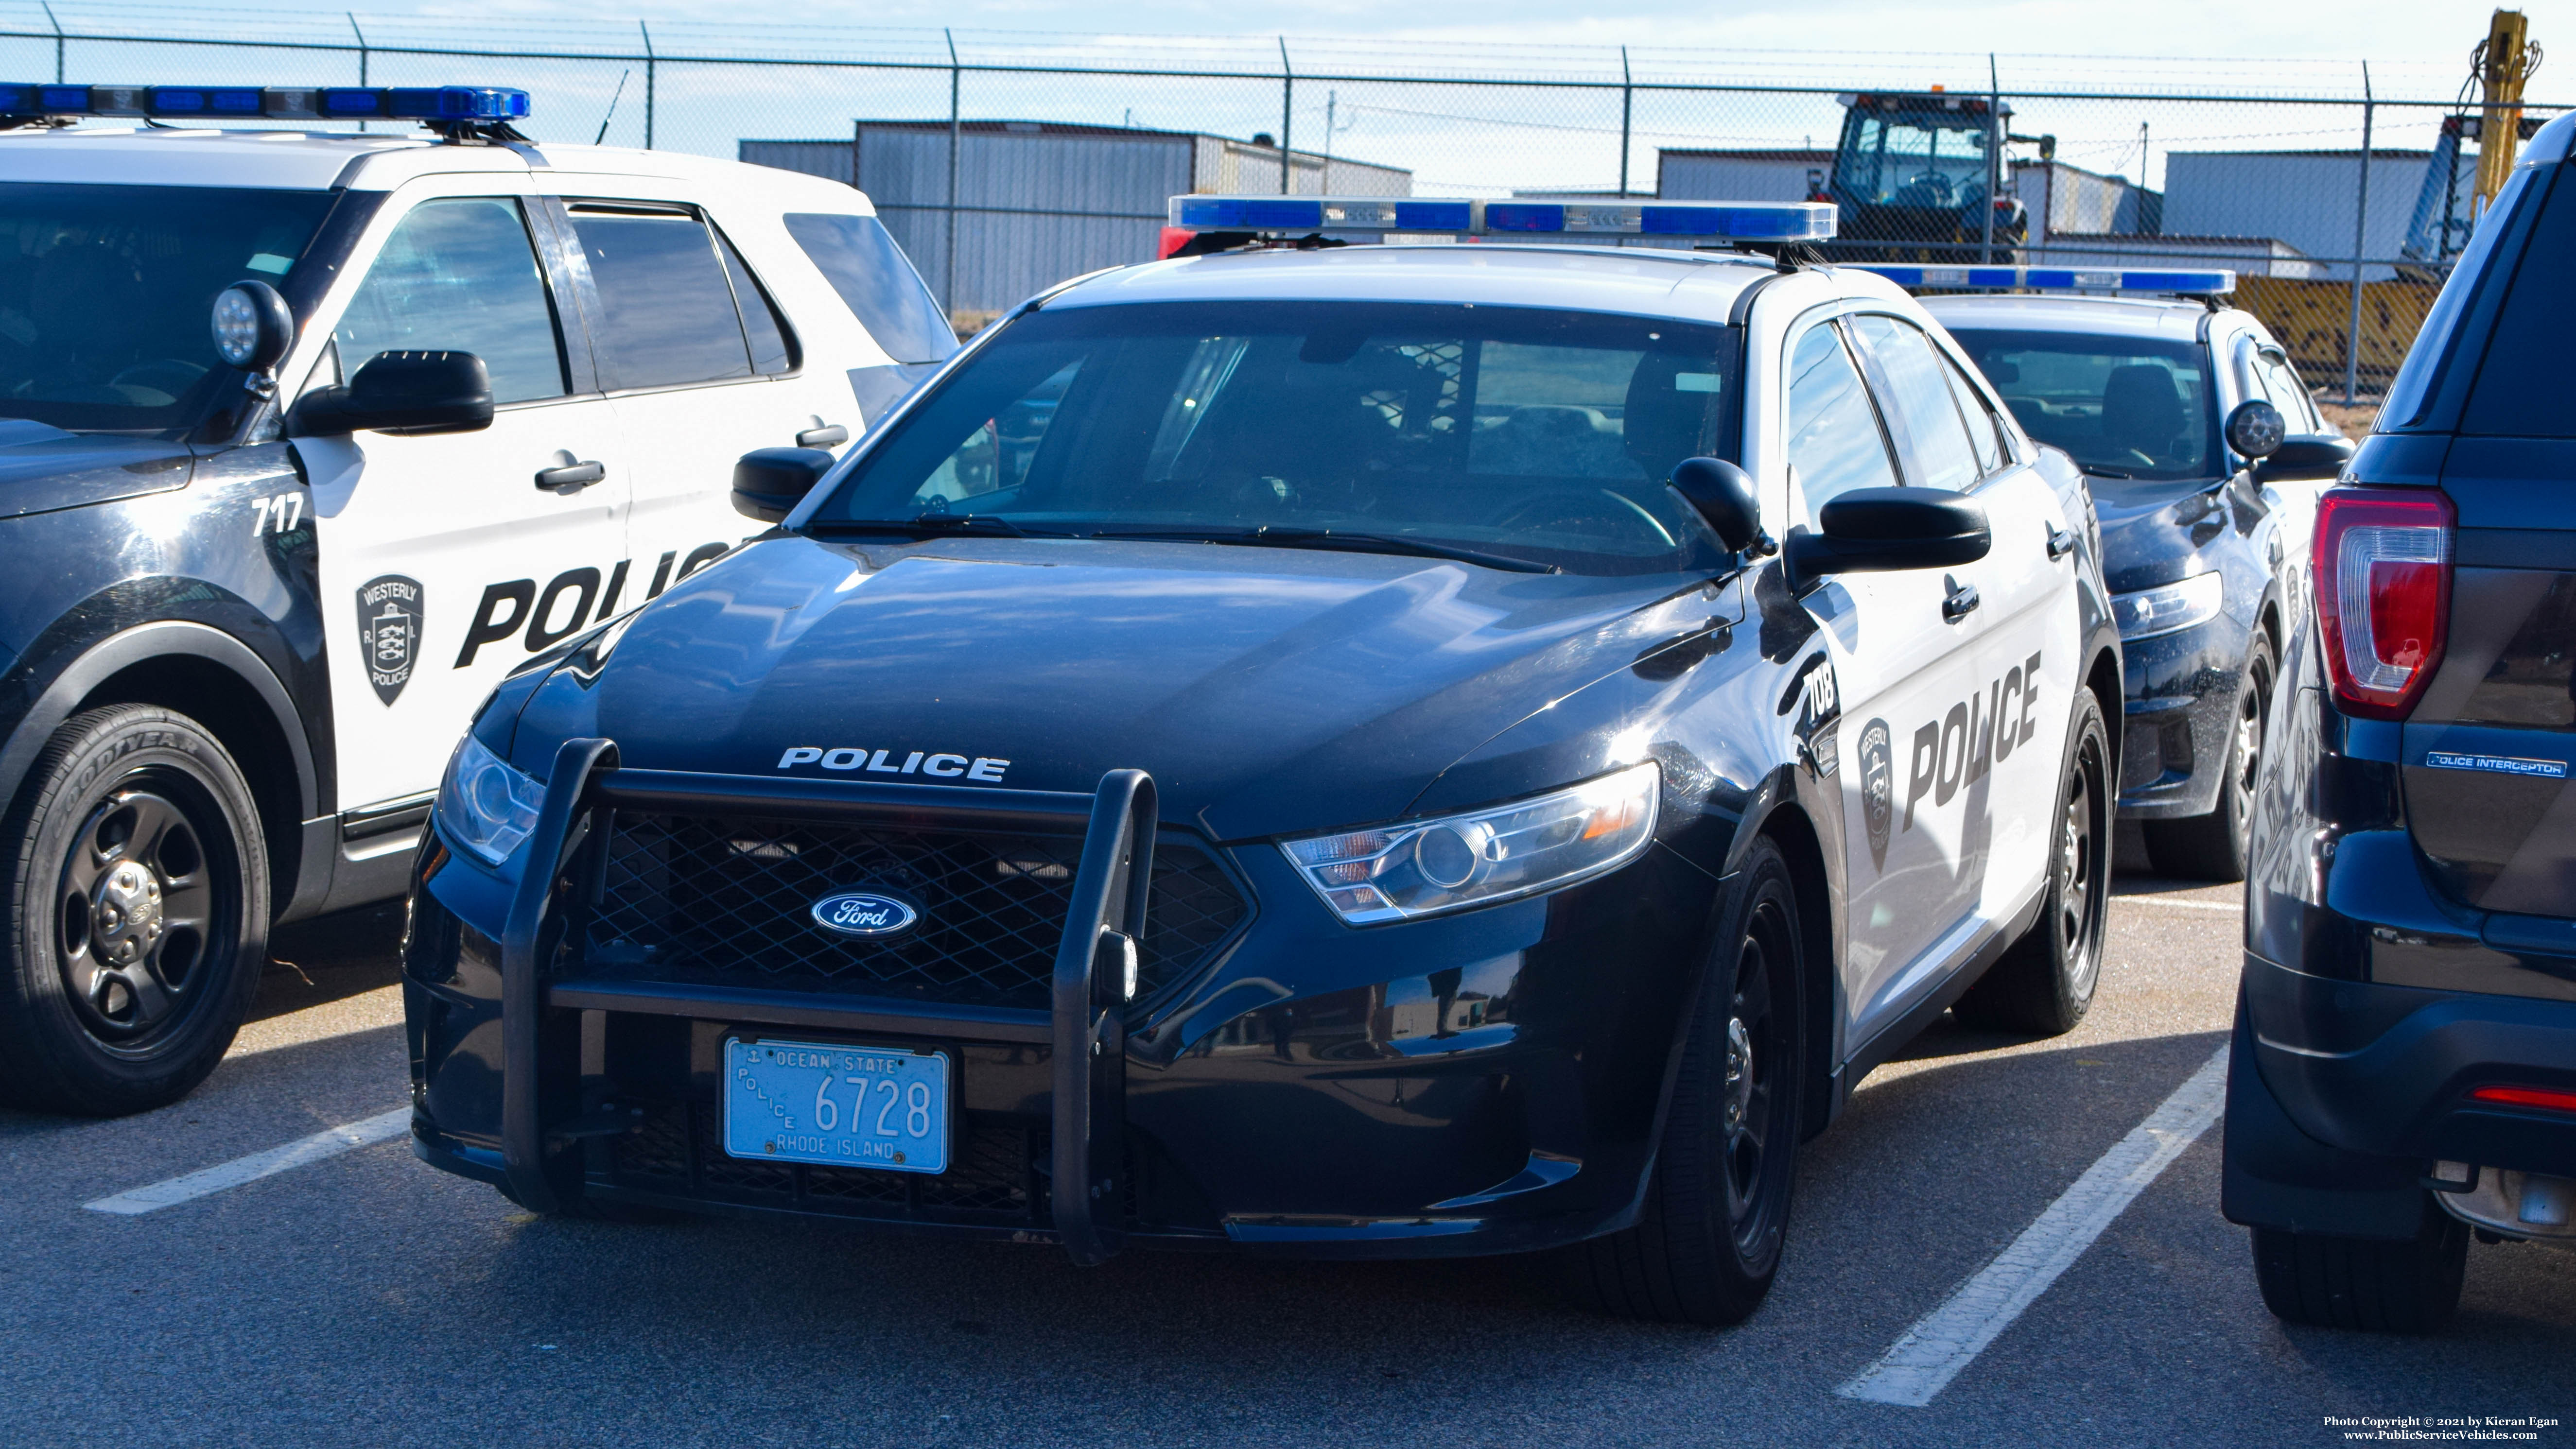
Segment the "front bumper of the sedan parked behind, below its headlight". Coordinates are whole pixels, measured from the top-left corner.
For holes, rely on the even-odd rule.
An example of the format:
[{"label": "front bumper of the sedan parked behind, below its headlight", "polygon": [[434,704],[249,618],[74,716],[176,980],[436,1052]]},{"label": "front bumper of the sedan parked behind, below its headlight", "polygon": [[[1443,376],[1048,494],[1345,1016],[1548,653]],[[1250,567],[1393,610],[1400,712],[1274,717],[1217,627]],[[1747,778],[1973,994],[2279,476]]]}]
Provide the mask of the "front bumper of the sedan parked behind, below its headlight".
[{"label": "front bumper of the sedan parked behind, below its headlight", "polygon": [[2120,643],[2123,816],[2166,821],[2218,808],[2251,643],[2228,615]]}]

